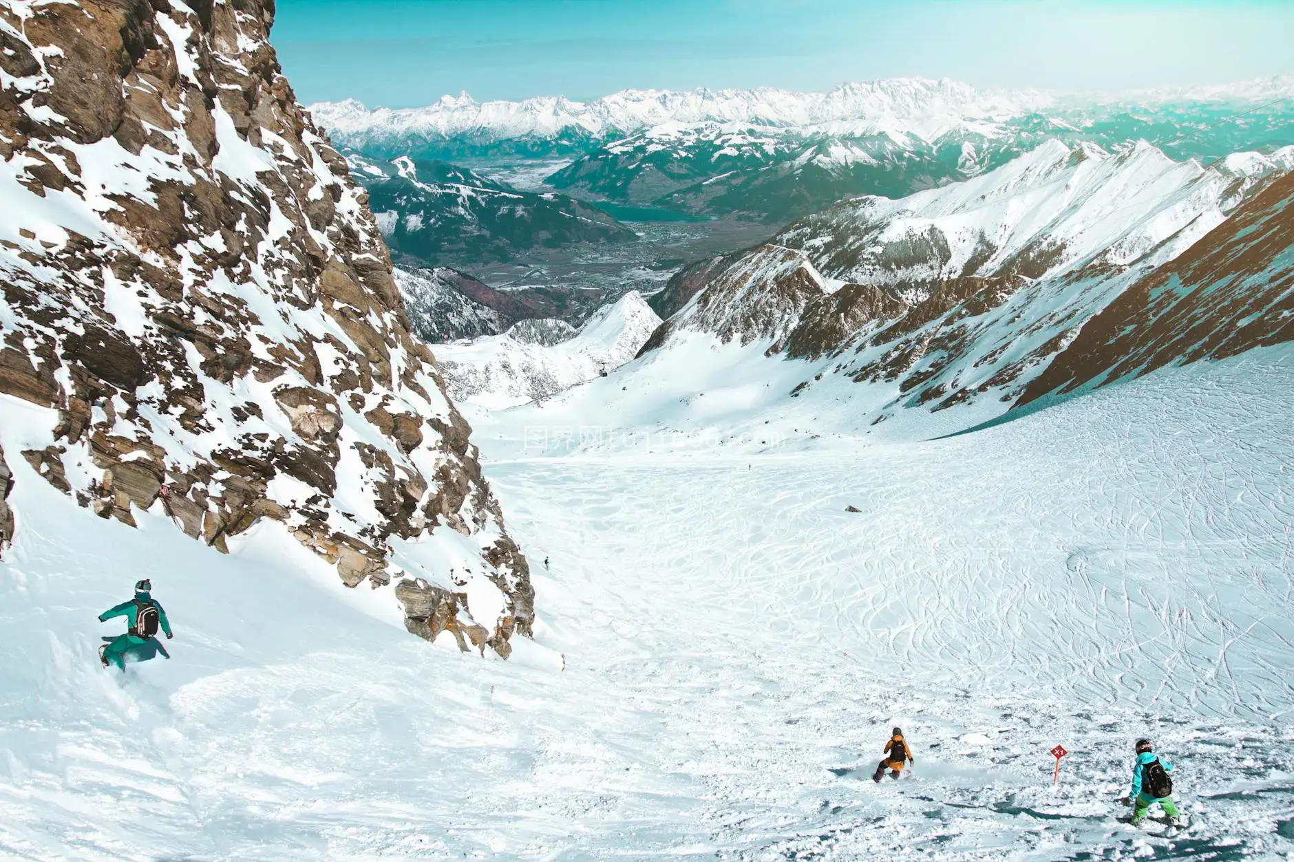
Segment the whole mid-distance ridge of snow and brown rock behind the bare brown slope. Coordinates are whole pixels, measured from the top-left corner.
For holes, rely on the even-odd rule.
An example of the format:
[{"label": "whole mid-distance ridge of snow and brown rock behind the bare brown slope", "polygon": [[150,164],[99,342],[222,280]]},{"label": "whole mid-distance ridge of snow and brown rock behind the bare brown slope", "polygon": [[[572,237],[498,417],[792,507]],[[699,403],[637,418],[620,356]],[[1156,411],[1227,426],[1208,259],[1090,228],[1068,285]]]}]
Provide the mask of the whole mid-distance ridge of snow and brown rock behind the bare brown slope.
[{"label": "whole mid-distance ridge of snow and brown rock behind the bare brown slope", "polygon": [[[866,423],[972,405],[959,415],[973,425],[1008,409],[1086,321],[1229,212],[1250,202],[1278,220],[1281,206],[1255,195],[1290,167],[1294,148],[1202,167],[1144,144],[1109,154],[1053,142],[965,182],[846,201],[788,227],[780,245],[681,273],[672,304],[699,293],[647,348],[668,352],[683,333],[756,342],[809,360],[795,387],[815,404],[823,375],[864,384],[846,397]],[[776,267],[765,265],[770,251]],[[784,271],[811,276],[788,293]],[[1254,302],[1278,295],[1272,282]],[[1227,329],[1250,312],[1194,313]]]}]

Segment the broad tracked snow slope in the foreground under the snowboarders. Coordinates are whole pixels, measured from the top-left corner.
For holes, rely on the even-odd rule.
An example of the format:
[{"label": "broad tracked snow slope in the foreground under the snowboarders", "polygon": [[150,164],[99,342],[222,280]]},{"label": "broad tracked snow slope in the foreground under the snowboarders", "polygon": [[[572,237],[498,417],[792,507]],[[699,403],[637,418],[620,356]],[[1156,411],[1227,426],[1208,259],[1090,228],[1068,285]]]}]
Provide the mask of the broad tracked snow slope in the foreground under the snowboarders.
[{"label": "broad tracked snow slope in the foreground under the snowboarders", "polygon": [[[0,858],[1281,858],[1291,361],[936,441],[490,462],[551,571],[538,643],[484,665],[273,523],[224,557],[17,459]],[[105,674],[140,576],[175,659]],[[892,724],[914,774],[858,780]],[[1113,821],[1143,734],[1181,837]]]}]

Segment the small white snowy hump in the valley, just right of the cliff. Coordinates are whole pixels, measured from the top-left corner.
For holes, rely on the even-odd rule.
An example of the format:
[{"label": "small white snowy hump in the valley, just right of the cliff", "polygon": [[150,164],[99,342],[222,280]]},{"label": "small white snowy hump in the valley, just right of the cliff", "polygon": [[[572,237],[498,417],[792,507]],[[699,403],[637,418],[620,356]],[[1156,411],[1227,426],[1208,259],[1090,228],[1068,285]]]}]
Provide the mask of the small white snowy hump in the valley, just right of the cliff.
[{"label": "small white snowy hump in the valley, just right of the cliff", "polygon": [[[446,344],[436,356],[457,401],[505,408],[542,401],[628,362],[660,325],[638,291],[599,308],[572,338],[545,344],[531,331]],[[519,335],[519,338],[516,337]]]}]

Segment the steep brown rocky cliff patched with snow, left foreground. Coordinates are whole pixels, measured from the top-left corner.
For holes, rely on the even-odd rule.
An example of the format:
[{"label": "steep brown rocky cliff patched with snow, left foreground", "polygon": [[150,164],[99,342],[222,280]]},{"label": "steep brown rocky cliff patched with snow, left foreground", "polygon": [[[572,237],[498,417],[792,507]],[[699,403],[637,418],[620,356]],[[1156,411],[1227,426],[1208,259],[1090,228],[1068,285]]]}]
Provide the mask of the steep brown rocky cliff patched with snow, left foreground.
[{"label": "steep brown rocky cliff patched with snow, left foreground", "polygon": [[[0,0],[0,400],[30,419],[4,457],[219,550],[278,522],[349,586],[399,581],[410,630],[507,655],[525,559],[273,12]],[[400,540],[457,575],[397,567]]]}]

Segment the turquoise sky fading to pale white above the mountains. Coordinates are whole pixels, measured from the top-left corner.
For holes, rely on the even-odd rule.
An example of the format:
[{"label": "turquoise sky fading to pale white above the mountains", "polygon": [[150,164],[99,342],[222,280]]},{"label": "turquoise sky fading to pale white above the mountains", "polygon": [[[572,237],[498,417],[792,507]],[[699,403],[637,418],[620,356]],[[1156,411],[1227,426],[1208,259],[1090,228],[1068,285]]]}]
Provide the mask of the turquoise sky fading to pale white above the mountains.
[{"label": "turquoise sky fading to pale white above the mountains", "polygon": [[1294,1],[280,0],[273,41],[304,102],[370,107],[901,75],[1126,91],[1294,74]]}]

